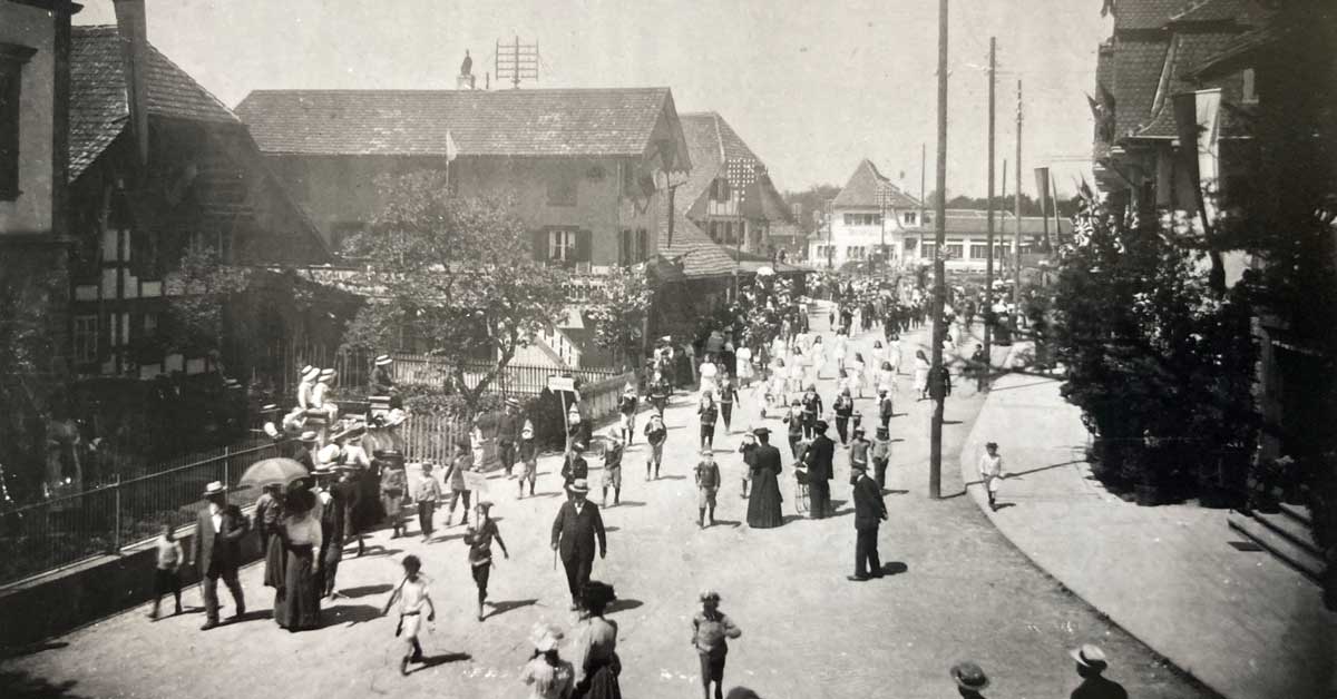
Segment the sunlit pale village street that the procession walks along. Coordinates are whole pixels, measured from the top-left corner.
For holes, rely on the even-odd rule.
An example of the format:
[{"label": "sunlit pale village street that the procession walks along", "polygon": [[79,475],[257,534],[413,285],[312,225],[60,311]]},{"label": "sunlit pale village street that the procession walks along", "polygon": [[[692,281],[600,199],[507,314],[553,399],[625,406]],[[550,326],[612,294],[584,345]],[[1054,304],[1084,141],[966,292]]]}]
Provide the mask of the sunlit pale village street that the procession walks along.
[{"label": "sunlit pale village street that the procession walks along", "polygon": [[[814,323],[825,329],[825,314],[814,315]],[[924,334],[909,339],[923,342]],[[861,339],[870,345],[870,337]],[[833,374],[834,366],[828,366],[818,385],[826,401],[833,398]],[[624,460],[623,501],[603,515],[608,557],[596,561],[594,576],[612,583],[619,597],[610,617],[620,627],[623,695],[699,695],[690,619],[698,592],[710,587],[721,592],[722,609],[743,631],[730,646],[726,687],[746,686],[767,699],[952,696],[947,670],[964,659],[991,675],[991,696],[1067,696],[1076,686],[1067,651],[1087,642],[1104,648],[1111,658],[1108,676],[1131,696],[1210,696],[1028,563],[964,497],[959,449],[984,398],[973,386],[961,386],[964,381],[957,384],[947,401],[945,497],[931,501],[931,402],[913,401],[909,377],[901,377],[900,414],[892,421],[889,521],[881,529],[884,567],[894,575],[866,583],[845,577],[853,572],[854,531],[852,507],[842,503],[849,491],[844,450],[837,452],[833,482],[838,516],[825,521],[796,516],[786,465],[785,527],[751,531],[741,524],[746,500],[739,497],[742,465],[734,449],[742,429],[759,422],[757,402],[746,392],[743,416],[715,445],[725,474],[721,524],[697,528],[695,412],[679,393],[667,412],[662,477],[644,481],[643,445],[634,445]],[[860,401],[857,409],[872,414],[872,401]],[[774,416],[766,424],[783,430]],[[786,449],[783,434],[775,437]],[[1005,434],[992,438],[1007,449]],[[591,458],[591,466],[596,464]],[[318,631],[277,628],[267,619],[271,591],[259,584],[261,567],[251,565],[242,572],[251,609],[245,623],[206,634],[198,630],[199,613],[150,623],[140,607],[55,639],[52,650],[7,662],[0,672],[41,687],[31,695],[43,696],[167,698],[180,696],[186,687],[199,698],[521,696],[517,675],[528,659],[531,625],[575,621],[548,548],[560,501],[559,465],[556,457],[540,461],[539,497],[532,500],[516,501],[513,481],[489,481],[485,497],[496,503],[493,513],[511,559],[499,560],[492,573],[496,608],[484,623],[473,619],[461,527],[439,529],[431,544],[378,532],[365,557],[345,559],[340,587],[348,599],[325,608]],[[598,472],[591,476],[598,484]],[[598,501],[598,491],[592,499]],[[439,511],[437,521],[443,519]],[[394,617],[381,617],[378,609],[398,581],[398,560],[406,553],[424,560],[437,620],[424,636],[429,667],[404,678]],[[198,608],[197,591],[186,599]]]}]

